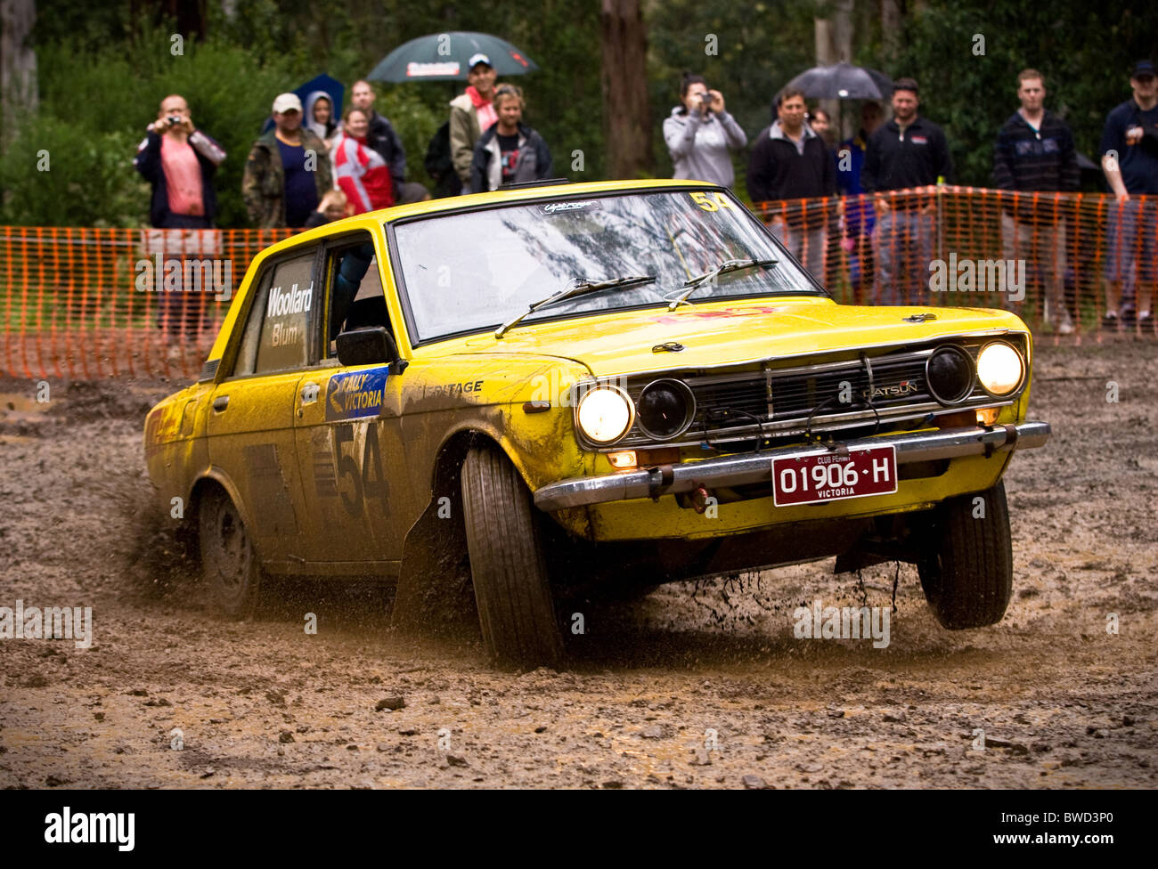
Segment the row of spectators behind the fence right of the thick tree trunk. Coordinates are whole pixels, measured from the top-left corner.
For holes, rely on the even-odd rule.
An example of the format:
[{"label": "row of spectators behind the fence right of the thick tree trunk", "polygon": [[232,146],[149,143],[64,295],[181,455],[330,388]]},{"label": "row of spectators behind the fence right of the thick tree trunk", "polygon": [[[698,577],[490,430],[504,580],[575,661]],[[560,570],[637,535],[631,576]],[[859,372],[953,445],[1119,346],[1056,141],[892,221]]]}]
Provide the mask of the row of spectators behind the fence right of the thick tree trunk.
[{"label": "row of spectators behind the fence right of the thick tree trunk", "polygon": [[[1158,204],[1158,80],[1150,60],[1135,64],[1131,98],[1106,118],[1099,154],[1115,197],[1107,219],[1106,316],[1121,330],[1153,327],[1158,281],[1155,262]],[[771,204],[769,227],[815,277],[831,282],[835,251],[849,255],[858,301],[914,304],[926,297],[937,228],[935,185],[951,183],[953,164],[944,131],[921,111],[914,79],[893,82],[891,117],[874,101],[862,103],[857,134],[834,145],[828,112],[808,109],[806,95],[786,87],[772,104],[769,126],[750,140],[747,189],[754,202]],[[1075,192],[1078,154],[1069,126],[1045,108],[1046,76],[1024,69],[1017,78],[1020,106],[994,145],[994,184],[1001,199],[1002,253],[1023,260],[1042,289],[1042,317],[1061,334],[1073,332],[1067,301],[1067,226],[1057,197],[1042,206],[1033,193]],[[732,154],[748,142],[724,109],[724,97],[704,79],[684,73],[681,104],[664,121],[674,177],[733,184]],[[838,200],[833,197],[840,196]],[[1075,228],[1076,229],[1076,228]],[[838,243],[829,244],[838,234]],[[1005,295],[1004,304],[1019,300]]]}]

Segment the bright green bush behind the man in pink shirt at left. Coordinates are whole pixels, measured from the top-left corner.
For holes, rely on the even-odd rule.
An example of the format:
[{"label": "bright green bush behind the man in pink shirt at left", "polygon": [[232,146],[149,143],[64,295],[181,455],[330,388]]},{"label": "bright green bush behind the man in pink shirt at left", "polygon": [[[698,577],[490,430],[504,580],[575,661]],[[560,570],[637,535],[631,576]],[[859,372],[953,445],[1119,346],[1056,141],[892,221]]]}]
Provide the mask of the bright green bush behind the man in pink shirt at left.
[{"label": "bright green bush behind the man in pink shirt at left", "polygon": [[[161,100],[178,93],[193,123],[229,155],[215,178],[218,226],[248,224],[241,200],[245,156],[273,96],[303,76],[287,62],[259,65],[251,52],[221,40],[185,43],[182,56],[170,45],[159,29],[138,35],[131,47],[86,47],[69,38],[38,49],[39,116],[0,155],[5,222],[146,224],[148,185],[132,159]],[[49,152],[51,170],[29,171],[41,149]]]}]

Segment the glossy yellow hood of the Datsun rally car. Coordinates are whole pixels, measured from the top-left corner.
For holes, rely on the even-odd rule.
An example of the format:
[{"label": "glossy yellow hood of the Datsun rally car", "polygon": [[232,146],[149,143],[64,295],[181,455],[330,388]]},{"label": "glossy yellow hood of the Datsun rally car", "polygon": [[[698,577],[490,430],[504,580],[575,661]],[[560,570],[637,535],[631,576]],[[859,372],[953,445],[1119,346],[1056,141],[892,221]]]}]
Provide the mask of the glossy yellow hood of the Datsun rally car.
[{"label": "glossy yellow hood of the Datsun rally car", "polygon": [[[904,319],[915,314],[932,314],[936,319]],[[464,339],[459,352],[563,356],[603,377],[742,364],[772,356],[1003,330],[1028,331],[1016,315],[985,308],[870,307],[837,304],[829,299],[765,299],[520,324],[498,340],[491,333]],[[661,345],[681,345],[682,349],[658,349]]]}]

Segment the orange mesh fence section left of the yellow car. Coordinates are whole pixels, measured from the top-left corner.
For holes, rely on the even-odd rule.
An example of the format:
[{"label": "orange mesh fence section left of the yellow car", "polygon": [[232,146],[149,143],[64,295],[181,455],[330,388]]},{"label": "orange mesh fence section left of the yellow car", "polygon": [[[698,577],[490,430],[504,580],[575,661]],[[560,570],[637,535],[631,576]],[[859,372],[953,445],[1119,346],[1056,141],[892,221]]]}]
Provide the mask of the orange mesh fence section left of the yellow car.
[{"label": "orange mesh fence section left of the yellow car", "polygon": [[0,227],[0,374],[193,377],[287,229]]}]

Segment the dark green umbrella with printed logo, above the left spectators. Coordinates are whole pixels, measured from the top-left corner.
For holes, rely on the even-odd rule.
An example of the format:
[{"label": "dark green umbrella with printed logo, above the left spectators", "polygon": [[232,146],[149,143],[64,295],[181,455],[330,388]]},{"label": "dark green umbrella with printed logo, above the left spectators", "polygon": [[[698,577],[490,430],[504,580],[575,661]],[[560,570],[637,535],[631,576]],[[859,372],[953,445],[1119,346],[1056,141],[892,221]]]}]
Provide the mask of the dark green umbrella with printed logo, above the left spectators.
[{"label": "dark green umbrella with printed logo, above the left spectators", "polygon": [[522,75],[538,65],[522,51],[490,34],[452,30],[430,34],[400,45],[374,67],[373,81],[464,81],[467,64],[485,54],[499,75]]}]

